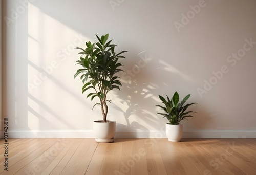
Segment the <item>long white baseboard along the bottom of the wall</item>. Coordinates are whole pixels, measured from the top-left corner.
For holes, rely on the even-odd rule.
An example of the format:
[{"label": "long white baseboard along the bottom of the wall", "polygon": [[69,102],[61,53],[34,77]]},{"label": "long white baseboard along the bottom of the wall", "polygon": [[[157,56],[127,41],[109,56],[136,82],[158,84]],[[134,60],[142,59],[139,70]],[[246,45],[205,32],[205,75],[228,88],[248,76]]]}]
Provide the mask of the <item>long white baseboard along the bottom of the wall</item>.
[{"label": "long white baseboard along the bottom of the wall", "polygon": [[[94,138],[94,134],[93,130],[9,130],[8,137]],[[166,138],[166,135],[165,130],[117,130],[115,137]],[[256,138],[256,130],[184,130],[183,138]]]}]

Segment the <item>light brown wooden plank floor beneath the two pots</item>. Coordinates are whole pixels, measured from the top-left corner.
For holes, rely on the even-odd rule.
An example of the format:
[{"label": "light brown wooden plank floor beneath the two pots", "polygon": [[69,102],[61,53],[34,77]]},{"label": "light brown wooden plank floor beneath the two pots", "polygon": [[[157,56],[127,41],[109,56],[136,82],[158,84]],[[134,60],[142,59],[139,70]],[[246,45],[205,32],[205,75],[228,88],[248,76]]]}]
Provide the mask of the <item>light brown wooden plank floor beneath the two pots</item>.
[{"label": "light brown wooden plank floor beneath the two pots", "polygon": [[0,174],[256,174],[256,139],[9,138],[8,148],[4,139],[0,144]]}]

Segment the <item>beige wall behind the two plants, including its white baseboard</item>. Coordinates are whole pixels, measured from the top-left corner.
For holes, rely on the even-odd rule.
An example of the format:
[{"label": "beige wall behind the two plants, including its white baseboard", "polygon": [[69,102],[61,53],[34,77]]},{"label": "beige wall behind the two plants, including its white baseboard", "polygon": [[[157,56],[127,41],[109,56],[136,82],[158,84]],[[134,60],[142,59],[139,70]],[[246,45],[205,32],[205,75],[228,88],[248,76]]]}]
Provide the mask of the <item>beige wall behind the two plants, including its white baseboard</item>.
[{"label": "beige wall behind the two plants, including its white baseboard", "polygon": [[255,1],[3,1],[3,116],[12,137],[93,137],[101,119],[73,80],[74,47],[110,34],[127,50],[111,94],[117,137],[165,137],[158,95],[194,118],[184,137],[255,137]]}]

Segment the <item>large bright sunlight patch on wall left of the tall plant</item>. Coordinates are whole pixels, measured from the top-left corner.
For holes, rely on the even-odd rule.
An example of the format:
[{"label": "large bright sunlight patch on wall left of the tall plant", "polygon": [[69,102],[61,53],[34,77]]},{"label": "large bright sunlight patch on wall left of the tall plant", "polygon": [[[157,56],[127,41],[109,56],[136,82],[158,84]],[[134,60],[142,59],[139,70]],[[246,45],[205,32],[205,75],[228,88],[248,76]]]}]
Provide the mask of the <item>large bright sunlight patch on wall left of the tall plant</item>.
[{"label": "large bright sunlight patch on wall left of the tall plant", "polygon": [[[87,37],[45,14],[33,4],[30,5],[28,9],[28,127],[30,129],[75,128],[68,119],[70,115],[75,115],[73,110],[76,106],[71,104],[80,99],[77,99],[70,91],[71,88],[67,86],[67,79],[69,81],[73,76],[71,75],[73,70],[67,70],[71,67],[70,62],[72,68],[75,65],[73,55],[77,52],[74,48],[81,47],[87,40]],[[72,83],[69,84],[72,87]],[[67,98],[69,100],[66,100]]]}]

